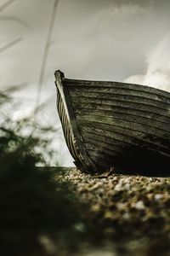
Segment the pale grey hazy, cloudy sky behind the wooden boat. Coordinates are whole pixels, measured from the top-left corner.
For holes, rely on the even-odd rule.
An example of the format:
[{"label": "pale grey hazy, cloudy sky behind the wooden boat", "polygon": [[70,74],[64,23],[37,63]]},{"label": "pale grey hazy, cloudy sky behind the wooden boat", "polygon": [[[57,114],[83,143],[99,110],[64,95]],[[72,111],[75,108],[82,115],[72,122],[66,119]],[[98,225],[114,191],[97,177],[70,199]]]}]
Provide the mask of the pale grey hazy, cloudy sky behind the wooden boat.
[{"label": "pale grey hazy, cloudy sky behind the wooden boat", "polygon": [[[21,107],[35,108],[42,55],[54,0],[0,0],[0,89],[20,84]],[[170,1],[59,0],[48,48],[38,117],[59,127],[54,71],[73,79],[104,79],[170,90]],[[61,128],[54,137],[59,165],[71,166]],[[58,152],[58,154],[57,154]]]}]

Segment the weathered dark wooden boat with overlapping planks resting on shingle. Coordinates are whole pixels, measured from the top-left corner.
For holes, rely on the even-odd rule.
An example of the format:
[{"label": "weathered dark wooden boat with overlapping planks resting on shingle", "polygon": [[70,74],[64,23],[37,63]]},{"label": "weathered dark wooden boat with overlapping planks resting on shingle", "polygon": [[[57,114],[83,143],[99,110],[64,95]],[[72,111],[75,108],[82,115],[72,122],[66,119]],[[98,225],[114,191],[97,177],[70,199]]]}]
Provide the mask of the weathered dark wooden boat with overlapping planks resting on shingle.
[{"label": "weathered dark wooden boat with overlapping planks resting on shingle", "polygon": [[60,71],[55,79],[59,118],[77,168],[169,173],[170,93],[139,84],[66,79]]}]

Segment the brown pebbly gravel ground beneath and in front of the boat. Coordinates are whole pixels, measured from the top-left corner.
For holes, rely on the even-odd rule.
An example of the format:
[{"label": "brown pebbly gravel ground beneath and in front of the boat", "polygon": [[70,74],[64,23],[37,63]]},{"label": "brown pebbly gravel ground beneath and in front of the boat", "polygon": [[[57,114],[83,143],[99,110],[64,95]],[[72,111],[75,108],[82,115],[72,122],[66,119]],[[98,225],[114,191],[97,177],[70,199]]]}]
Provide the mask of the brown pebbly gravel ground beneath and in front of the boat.
[{"label": "brown pebbly gravel ground beneath and in front of the boat", "polygon": [[77,249],[59,255],[170,255],[170,177],[97,178],[76,168],[54,172],[84,206],[75,225]]}]

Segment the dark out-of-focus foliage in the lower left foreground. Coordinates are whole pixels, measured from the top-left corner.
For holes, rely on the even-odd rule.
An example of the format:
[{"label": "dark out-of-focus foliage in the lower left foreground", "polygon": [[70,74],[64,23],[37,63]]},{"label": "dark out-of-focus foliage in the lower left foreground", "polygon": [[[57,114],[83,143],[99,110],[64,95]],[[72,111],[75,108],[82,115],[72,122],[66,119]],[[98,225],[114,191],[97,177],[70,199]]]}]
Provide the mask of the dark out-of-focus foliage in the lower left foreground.
[{"label": "dark out-of-focus foliage in the lower left foreground", "polygon": [[[2,104],[11,101],[1,94]],[[55,168],[48,168],[42,151],[48,151],[48,139],[41,133],[50,127],[35,127],[30,119],[14,122],[5,114],[0,125],[0,254],[56,255],[56,246],[75,236],[80,220],[80,204],[69,183],[54,181]],[[23,130],[31,127],[31,132]],[[39,148],[37,150],[37,148]],[[43,164],[46,167],[37,167]],[[59,171],[59,168],[58,168]],[[68,239],[69,230],[73,238]]]}]

